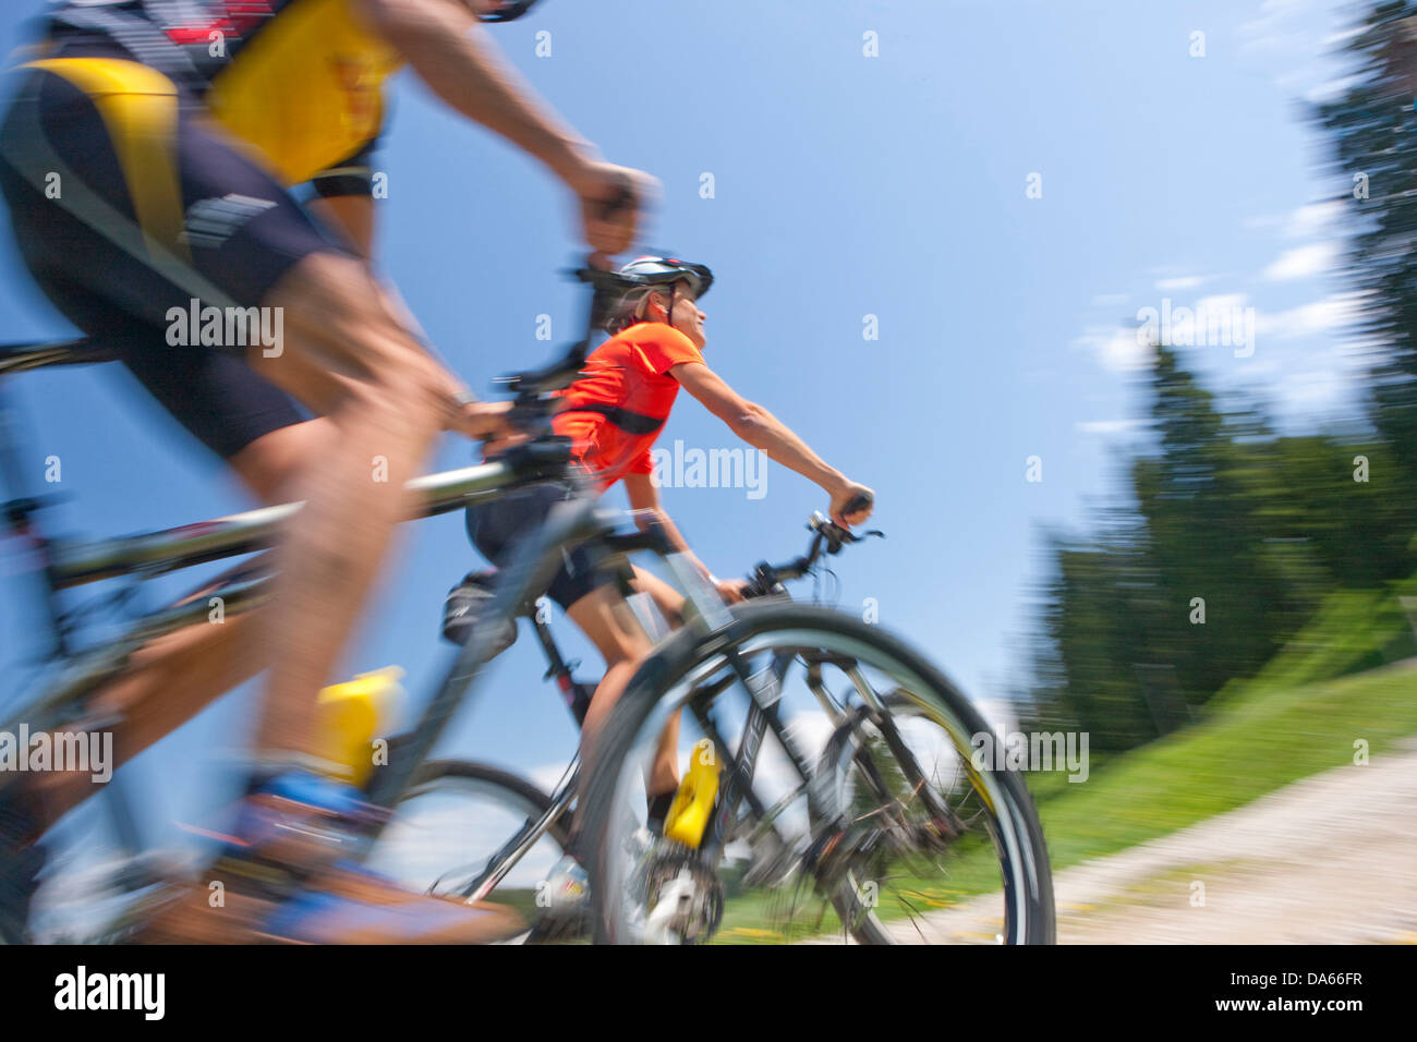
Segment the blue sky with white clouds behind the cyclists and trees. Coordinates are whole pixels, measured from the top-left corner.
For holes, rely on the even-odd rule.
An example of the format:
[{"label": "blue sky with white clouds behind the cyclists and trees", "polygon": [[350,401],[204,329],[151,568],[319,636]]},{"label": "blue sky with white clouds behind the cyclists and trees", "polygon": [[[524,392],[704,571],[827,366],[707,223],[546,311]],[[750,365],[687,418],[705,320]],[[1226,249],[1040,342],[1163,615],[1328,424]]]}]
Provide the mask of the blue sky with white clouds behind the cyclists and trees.
[{"label": "blue sky with white clouds behind the cyclists and trees", "polygon": [[[710,364],[877,491],[871,523],[888,539],[840,559],[843,607],[874,598],[881,625],[993,699],[1027,649],[1041,533],[1084,525],[1138,437],[1139,308],[1254,308],[1251,357],[1220,346],[1186,357],[1213,386],[1271,401],[1287,427],[1356,413],[1345,298],[1323,274],[1335,186],[1301,121],[1340,28],[1336,4],[1304,0],[546,0],[495,35],[608,159],[663,181],[643,245],[714,268]],[[551,55],[538,58],[543,31]],[[1195,31],[1204,57],[1190,55]],[[863,54],[866,33],[879,57]],[[16,41],[0,28],[0,47]],[[486,391],[574,335],[580,299],[555,276],[577,248],[571,200],[411,74],[391,112],[381,267]],[[706,172],[713,198],[700,196]],[[1030,198],[1034,173],[1041,197]],[[536,339],[543,313],[553,343]],[[863,339],[867,315],[876,340]],[[67,333],[6,240],[0,339]],[[50,519],[57,530],[118,534],[247,505],[122,371],[37,373],[14,387],[34,479],[45,456],[62,461],[71,499]],[[676,439],[735,444],[687,397],[660,444]],[[1024,479],[1032,455],[1041,482]],[[434,465],[469,459],[448,439]],[[777,465],[761,499],[663,498],[718,574],[799,551],[802,522],[825,506]],[[451,654],[436,637],[442,595],[476,554],[458,516],[404,534],[346,672],[398,663],[418,693]],[[0,663],[14,676],[33,611],[3,581]],[[595,652],[558,632],[594,676]],[[574,733],[540,672],[523,637],[449,747],[523,768],[564,758]],[[201,754],[237,741],[249,698],[139,761],[160,818],[210,798]]]}]

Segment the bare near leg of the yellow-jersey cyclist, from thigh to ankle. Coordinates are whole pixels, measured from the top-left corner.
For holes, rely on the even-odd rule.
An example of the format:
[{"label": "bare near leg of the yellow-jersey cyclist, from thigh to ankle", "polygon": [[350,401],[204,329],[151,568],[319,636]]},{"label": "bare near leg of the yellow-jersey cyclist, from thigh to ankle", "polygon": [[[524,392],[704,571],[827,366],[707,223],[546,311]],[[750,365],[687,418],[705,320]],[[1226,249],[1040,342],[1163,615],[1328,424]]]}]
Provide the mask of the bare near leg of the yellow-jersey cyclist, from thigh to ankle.
[{"label": "bare near leg of the yellow-jersey cyclist, from thigh to ankle", "polygon": [[258,744],[313,757],[315,695],[334,671],[394,527],[412,513],[405,482],[421,474],[434,439],[455,427],[459,387],[353,258],[306,257],[262,306],[283,313],[285,346],[271,359],[252,349],[252,367],[337,431],[293,489],[306,505],[278,549],[276,597],[264,622],[273,661]]}]

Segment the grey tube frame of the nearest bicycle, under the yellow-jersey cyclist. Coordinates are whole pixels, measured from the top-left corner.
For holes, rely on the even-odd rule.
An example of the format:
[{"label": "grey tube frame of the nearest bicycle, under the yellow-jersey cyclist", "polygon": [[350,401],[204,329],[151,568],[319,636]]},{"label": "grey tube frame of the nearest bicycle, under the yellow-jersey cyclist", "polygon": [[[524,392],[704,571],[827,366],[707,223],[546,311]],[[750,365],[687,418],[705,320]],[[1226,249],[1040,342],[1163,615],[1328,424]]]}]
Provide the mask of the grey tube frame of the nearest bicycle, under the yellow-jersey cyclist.
[{"label": "grey tube frame of the nearest bicycle, under the yellow-jersey cyclist", "polygon": [[[0,456],[6,459],[4,474],[17,488],[13,465],[14,424],[9,417],[7,404],[0,400]],[[565,479],[564,461],[550,459],[548,448],[533,442],[529,452],[509,452],[504,459],[449,471],[408,482],[410,491],[418,493],[419,506],[412,519],[429,517],[462,509],[473,502],[495,499],[510,489],[526,483],[558,476]],[[612,556],[635,550],[650,550],[665,557],[670,570],[687,584],[689,598],[701,605],[701,615],[723,612],[716,591],[687,566],[677,566],[677,554],[672,551],[657,527],[649,532],[616,536],[615,523],[619,512],[604,510],[589,495],[589,486],[580,479],[581,495],[557,503],[546,525],[524,540],[507,567],[502,570],[489,615],[514,618],[517,605],[540,594],[563,564],[561,549],[587,540],[599,542]],[[34,515],[41,503],[34,499],[17,498],[6,505],[7,526],[26,546],[35,561],[35,571],[44,580],[45,604],[51,629],[55,635],[54,658],[61,663],[60,673],[51,679],[43,692],[27,699],[23,709],[9,715],[6,727],[14,729],[21,720],[31,732],[58,729],[65,723],[79,722],[89,727],[111,724],[112,720],[95,720],[85,716],[84,702],[88,695],[116,678],[130,656],[166,634],[208,621],[210,597],[221,597],[224,615],[238,615],[261,607],[269,600],[273,576],[269,568],[228,571],[203,590],[204,595],[179,601],[159,611],[133,620],[115,639],[99,646],[72,651],[71,627],[60,604],[58,595],[79,586],[118,577],[150,578],[169,574],[194,564],[232,559],[271,547],[281,529],[300,510],[300,503],[283,503],[244,513],[218,517],[210,522],[184,525],[159,532],[135,536],[69,543],[50,542],[35,529]],[[676,567],[677,566],[677,567]],[[400,754],[388,766],[381,767],[370,778],[367,797],[371,802],[393,808],[412,784],[419,766],[442,736],[453,713],[463,700],[470,699],[475,683],[487,661],[492,627],[479,628],[456,655],[445,679],[427,703],[414,729],[402,736]],[[526,845],[509,851],[506,869],[529,849],[550,822],[564,812],[575,795],[577,777],[561,787],[554,801],[554,812],[540,828],[526,839]],[[142,849],[143,842],[136,828],[136,815],[125,797],[122,783],[115,778],[108,783],[108,811],[119,845],[128,855]],[[378,829],[364,835],[351,856],[367,855],[378,838]],[[504,875],[504,872],[502,873]],[[490,886],[496,885],[490,880]],[[487,889],[490,889],[490,886]]]}]

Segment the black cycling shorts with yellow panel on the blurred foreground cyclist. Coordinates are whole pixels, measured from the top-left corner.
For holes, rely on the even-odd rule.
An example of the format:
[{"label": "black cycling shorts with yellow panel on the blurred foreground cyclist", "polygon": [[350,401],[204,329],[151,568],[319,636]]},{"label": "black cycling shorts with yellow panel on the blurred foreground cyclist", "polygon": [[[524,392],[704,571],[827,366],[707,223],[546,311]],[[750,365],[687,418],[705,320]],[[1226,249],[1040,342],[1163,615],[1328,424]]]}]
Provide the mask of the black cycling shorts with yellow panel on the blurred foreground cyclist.
[{"label": "black cycling shorts with yellow panel on the blurred foreground cyclist", "polygon": [[306,418],[245,350],[171,346],[173,308],[252,308],[286,271],[349,252],[201,119],[191,86],[102,37],[10,74],[0,191],[45,295],[203,444],[230,458]]}]

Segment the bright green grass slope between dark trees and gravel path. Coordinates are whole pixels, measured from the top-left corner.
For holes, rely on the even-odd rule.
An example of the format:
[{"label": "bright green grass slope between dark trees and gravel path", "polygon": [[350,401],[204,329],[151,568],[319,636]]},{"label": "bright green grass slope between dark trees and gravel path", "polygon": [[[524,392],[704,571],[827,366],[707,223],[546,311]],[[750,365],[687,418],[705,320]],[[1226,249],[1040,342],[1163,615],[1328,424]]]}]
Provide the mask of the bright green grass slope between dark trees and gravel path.
[{"label": "bright green grass slope between dark trees and gravel path", "polygon": [[[1063,773],[1029,778],[1053,870],[1233,811],[1321,771],[1363,770],[1355,766],[1357,740],[1380,757],[1417,734],[1417,671],[1391,665],[1417,655],[1401,595],[1417,595],[1417,577],[1383,590],[1338,591],[1260,673],[1212,699],[1199,723],[1125,754],[1093,756],[1085,783],[1068,783]],[[981,866],[971,863],[982,855],[962,859],[961,889],[988,889]]]}]

